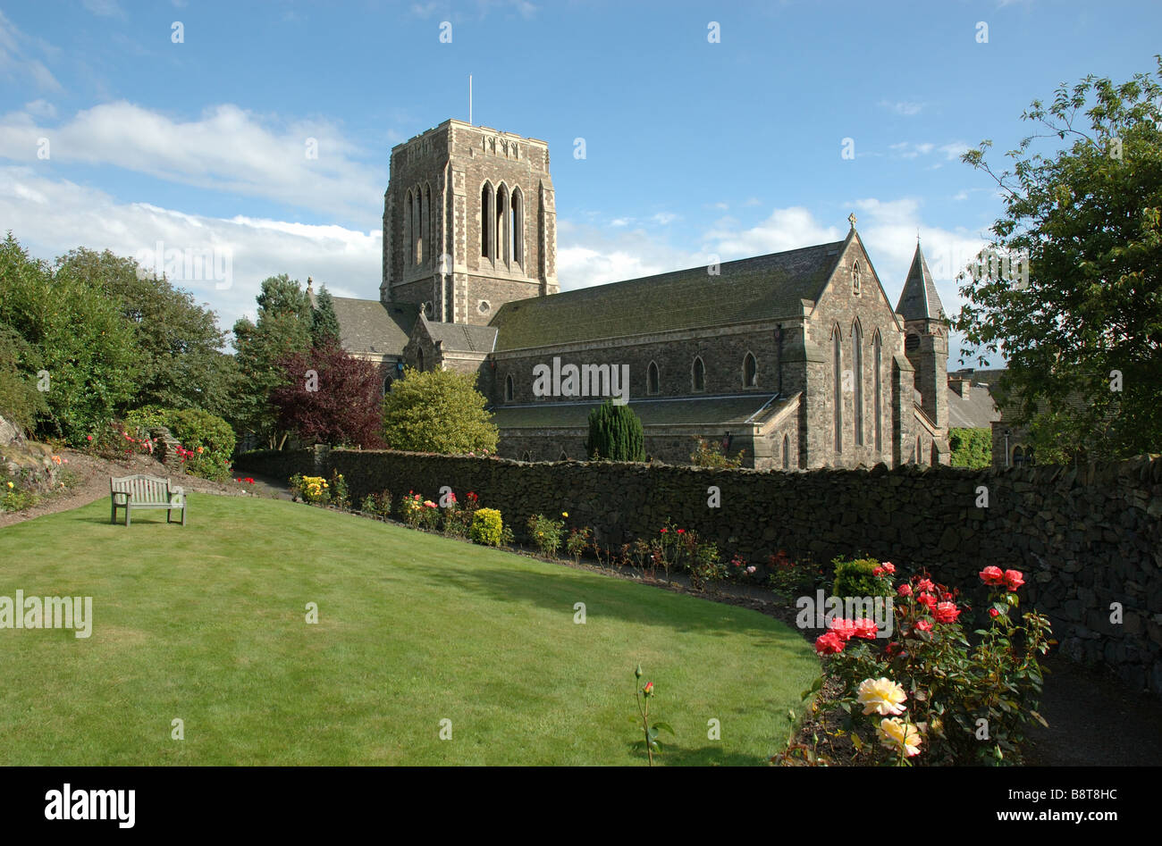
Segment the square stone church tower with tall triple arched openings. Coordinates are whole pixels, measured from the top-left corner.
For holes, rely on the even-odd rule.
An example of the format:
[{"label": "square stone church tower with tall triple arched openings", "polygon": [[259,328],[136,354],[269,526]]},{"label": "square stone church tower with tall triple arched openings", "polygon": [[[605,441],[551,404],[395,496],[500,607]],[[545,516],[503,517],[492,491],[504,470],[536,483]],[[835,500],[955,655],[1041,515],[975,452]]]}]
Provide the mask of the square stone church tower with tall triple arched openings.
[{"label": "square stone church tower with tall triple arched openings", "polygon": [[385,306],[486,325],[512,300],[558,293],[548,145],[449,120],[392,150]]}]

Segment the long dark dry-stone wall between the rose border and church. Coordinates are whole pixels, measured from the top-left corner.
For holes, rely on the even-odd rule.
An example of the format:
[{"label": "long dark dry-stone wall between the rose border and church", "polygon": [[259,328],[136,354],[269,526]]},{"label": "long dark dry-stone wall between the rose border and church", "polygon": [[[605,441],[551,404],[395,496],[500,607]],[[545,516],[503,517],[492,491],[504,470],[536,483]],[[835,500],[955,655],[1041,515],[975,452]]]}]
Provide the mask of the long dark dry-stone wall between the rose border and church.
[{"label": "long dark dry-stone wall between the rose border and church", "polygon": [[[1066,655],[1162,695],[1162,458],[766,473],[316,449],[246,453],[238,466],[281,479],[338,469],[354,502],[383,489],[396,500],[409,490],[436,499],[442,486],[461,499],[474,490],[517,539],[531,514],[568,511],[568,524],[593,526],[603,546],[653,537],[670,519],[752,561],[777,550],[817,561],[862,552],[905,573],[927,567],[968,588],[976,607],[984,566],[1020,569],[1026,607],[1050,617]],[[719,508],[708,507],[710,486],[720,489]],[[1111,623],[1111,603],[1121,604],[1120,623]]]}]

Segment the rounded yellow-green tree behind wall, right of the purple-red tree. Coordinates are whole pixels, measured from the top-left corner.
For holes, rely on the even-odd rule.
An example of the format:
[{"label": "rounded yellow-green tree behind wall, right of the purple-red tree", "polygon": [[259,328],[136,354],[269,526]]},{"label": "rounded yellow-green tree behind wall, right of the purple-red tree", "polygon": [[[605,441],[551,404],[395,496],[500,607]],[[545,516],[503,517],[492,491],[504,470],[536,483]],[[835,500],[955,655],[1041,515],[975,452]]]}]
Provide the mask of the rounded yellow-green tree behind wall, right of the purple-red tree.
[{"label": "rounded yellow-green tree behind wall, right of the purple-red tree", "polygon": [[383,440],[392,450],[494,452],[500,432],[476,378],[410,367],[383,397]]}]

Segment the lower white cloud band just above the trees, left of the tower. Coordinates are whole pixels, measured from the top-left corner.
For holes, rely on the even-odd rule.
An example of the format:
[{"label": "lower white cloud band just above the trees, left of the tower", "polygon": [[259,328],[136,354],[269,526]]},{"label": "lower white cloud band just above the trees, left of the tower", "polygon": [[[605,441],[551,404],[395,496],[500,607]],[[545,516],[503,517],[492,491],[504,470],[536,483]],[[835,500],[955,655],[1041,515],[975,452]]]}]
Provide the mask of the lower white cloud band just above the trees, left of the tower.
[{"label": "lower white cloud band just above the trees, left of the tower", "polygon": [[230,286],[208,279],[175,279],[199,302],[218,313],[229,329],[253,317],[261,280],[279,273],[316,289],[325,284],[340,296],[379,296],[381,232],[338,225],[308,225],[253,217],[222,220],[184,214],[149,203],[119,203],[108,194],[37,174],[31,167],[0,167],[0,220],[34,256],[52,259],[77,246],[138,257],[164,250],[213,251],[227,257]]}]

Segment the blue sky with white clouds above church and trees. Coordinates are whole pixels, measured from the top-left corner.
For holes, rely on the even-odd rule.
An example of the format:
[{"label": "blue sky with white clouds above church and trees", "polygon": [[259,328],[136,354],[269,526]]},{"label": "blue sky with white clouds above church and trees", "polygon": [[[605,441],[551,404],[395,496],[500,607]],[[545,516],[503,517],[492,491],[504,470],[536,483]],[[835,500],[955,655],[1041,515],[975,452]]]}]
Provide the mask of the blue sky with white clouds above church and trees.
[{"label": "blue sky with white clouds above church and trees", "polygon": [[42,258],[213,249],[228,284],[178,281],[225,327],[281,272],[374,297],[389,150],[467,120],[471,73],[476,123],[550,144],[562,289],[854,210],[888,295],[919,230],[955,311],[1000,213],[959,153],[1014,146],[1059,83],[1150,71],[1159,31],[1156,1],[0,1],[0,229]]}]

